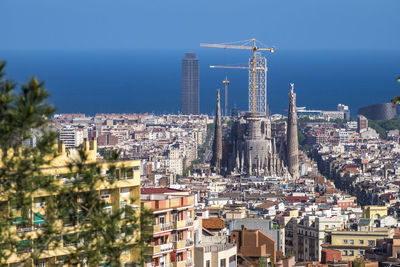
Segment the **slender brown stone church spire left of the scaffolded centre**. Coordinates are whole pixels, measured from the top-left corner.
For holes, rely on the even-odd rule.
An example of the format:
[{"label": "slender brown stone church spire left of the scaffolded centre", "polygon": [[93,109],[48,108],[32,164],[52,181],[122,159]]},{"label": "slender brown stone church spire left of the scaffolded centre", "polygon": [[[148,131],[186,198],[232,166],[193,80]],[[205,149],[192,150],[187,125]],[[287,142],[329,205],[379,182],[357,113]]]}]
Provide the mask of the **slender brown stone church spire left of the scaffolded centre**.
[{"label": "slender brown stone church spire left of the scaffolded centre", "polygon": [[220,172],[222,160],[222,123],[221,123],[221,105],[219,89],[217,90],[217,110],[215,113],[215,129],[213,141],[213,156],[211,166],[215,168],[217,174]]}]

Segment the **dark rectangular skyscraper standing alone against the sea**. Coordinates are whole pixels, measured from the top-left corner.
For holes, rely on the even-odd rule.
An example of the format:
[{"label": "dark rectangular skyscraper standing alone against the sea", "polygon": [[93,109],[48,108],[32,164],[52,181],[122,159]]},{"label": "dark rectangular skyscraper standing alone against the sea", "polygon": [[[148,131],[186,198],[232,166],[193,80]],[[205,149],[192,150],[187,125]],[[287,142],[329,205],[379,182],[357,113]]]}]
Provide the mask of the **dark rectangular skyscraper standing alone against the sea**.
[{"label": "dark rectangular skyscraper standing alone against the sea", "polygon": [[182,60],[182,113],[199,114],[199,60],[195,53],[185,53]]}]

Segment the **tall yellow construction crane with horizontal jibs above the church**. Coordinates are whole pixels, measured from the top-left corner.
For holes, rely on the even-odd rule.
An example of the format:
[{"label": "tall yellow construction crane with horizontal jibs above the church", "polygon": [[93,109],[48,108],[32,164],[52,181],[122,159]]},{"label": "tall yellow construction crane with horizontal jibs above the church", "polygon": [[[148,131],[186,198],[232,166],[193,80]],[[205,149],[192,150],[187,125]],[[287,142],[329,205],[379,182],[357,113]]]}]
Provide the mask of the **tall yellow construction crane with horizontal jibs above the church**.
[{"label": "tall yellow construction crane with horizontal jibs above the church", "polygon": [[[244,43],[240,45],[236,45],[234,43]],[[202,47],[215,47],[215,48],[224,48],[224,49],[245,49],[245,50],[252,50],[253,51],[253,64],[251,66],[251,72],[253,75],[253,84],[252,84],[252,89],[253,89],[253,103],[252,103],[252,111],[254,113],[257,112],[257,99],[256,99],[256,92],[257,92],[257,70],[262,69],[265,70],[265,68],[259,68],[257,67],[257,61],[256,61],[256,55],[258,51],[270,51],[273,53],[275,51],[275,48],[260,48],[256,44],[256,39],[250,39],[246,41],[239,41],[239,42],[234,42],[234,43],[227,43],[227,44],[205,44],[201,43],[200,46]],[[235,67],[235,66],[210,66],[210,68],[228,68],[228,69],[249,69],[250,67]]]}]

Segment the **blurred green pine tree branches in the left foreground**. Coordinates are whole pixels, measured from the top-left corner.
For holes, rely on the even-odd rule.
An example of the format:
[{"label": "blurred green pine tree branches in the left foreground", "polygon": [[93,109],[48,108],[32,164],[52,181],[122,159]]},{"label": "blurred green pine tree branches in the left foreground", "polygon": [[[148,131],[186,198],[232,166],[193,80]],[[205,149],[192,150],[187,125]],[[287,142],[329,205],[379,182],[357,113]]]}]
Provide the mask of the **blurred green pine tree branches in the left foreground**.
[{"label": "blurred green pine tree branches in the left foreground", "polygon": [[[120,256],[133,249],[142,257],[130,264],[143,263],[151,223],[148,211],[139,214],[126,205],[108,212],[95,189],[100,182],[116,182],[112,177],[121,170],[110,164],[107,178],[96,163],[86,162],[87,155],[80,150],[62,175],[67,185],[44,174],[43,166],[58,155],[56,133],[49,130],[55,108],[47,102],[43,82],[32,78],[17,90],[4,66],[0,61],[0,264],[16,254],[20,266],[30,266],[54,249],[67,251],[64,262],[88,266],[120,266]],[[23,145],[32,130],[41,135],[36,146]],[[45,214],[40,229],[32,231],[35,201]]]}]

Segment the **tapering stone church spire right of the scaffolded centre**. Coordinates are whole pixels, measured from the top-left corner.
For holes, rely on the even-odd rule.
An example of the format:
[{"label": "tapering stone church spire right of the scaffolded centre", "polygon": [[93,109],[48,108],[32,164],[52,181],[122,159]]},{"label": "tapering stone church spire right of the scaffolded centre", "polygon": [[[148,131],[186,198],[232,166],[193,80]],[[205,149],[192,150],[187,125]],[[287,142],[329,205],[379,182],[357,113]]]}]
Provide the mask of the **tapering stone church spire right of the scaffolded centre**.
[{"label": "tapering stone church spire right of the scaffolded centre", "polygon": [[287,126],[287,166],[293,179],[299,178],[299,141],[297,138],[296,94],[294,93],[294,83],[291,83]]}]

